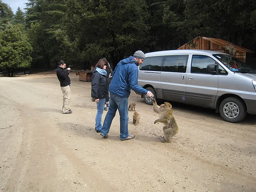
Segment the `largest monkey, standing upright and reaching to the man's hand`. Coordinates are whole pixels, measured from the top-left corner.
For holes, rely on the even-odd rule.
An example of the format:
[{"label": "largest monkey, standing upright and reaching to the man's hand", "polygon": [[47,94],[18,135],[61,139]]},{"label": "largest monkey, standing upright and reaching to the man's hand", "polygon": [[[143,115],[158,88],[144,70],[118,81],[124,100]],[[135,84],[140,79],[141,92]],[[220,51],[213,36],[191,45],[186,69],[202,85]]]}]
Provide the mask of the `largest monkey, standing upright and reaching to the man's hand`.
[{"label": "largest monkey, standing upright and reaching to the man's hand", "polygon": [[159,119],[155,120],[156,123],[163,123],[163,138],[164,143],[169,143],[173,136],[175,136],[179,127],[173,116],[172,105],[168,102],[164,102],[160,106],[157,105],[156,99],[153,99],[153,109],[155,112],[159,113]]}]

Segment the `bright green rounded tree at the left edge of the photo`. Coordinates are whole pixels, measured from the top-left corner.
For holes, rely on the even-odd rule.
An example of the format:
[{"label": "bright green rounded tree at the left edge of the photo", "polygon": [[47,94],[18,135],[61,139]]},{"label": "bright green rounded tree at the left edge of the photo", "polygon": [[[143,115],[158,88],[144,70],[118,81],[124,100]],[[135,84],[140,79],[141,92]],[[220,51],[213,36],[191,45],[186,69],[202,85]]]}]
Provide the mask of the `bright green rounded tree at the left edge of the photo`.
[{"label": "bright green rounded tree at the left edge of the photo", "polygon": [[8,24],[0,31],[0,68],[7,70],[13,76],[15,70],[29,68],[32,57],[32,47],[23,25]]}]

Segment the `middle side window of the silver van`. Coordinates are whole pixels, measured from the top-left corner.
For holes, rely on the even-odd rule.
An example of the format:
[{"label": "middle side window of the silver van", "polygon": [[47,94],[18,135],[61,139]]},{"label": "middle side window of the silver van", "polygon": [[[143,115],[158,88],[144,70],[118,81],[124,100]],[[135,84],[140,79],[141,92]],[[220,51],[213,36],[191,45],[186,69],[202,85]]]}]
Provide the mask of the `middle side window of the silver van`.
[{"label": "middle side window of the silver van", "polygon": [[166,56],[162,71],[185,73],[188,55]]}]

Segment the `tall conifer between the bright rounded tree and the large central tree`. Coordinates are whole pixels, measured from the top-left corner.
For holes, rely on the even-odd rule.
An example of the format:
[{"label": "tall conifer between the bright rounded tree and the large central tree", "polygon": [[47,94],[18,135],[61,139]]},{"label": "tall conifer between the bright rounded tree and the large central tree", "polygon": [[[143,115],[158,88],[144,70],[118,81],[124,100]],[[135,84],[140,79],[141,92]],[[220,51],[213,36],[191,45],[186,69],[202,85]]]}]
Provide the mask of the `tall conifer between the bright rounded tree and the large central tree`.
[{"label": "tall conifer between the bright rounded tree and the large central tree", "polygon": [[55,31],[61,28],[66,10],[65,1],[29,0],[26,9],[26,24],[31,28],[29,37],[35,57],[32,66],[38,67],[40,62],[43,63],[41,67],[54,68],[58,60],[64,57],[60,54],[61,42],[57,41]]}]

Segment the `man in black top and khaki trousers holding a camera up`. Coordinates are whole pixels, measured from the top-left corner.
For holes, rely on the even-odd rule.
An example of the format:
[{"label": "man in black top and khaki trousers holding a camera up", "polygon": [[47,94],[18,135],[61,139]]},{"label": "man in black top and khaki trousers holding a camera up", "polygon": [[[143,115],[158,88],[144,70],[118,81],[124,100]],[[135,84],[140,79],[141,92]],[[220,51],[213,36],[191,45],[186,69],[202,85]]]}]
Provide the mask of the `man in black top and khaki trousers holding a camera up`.
[{"label": "man in black top and khaki trousers holding a camera up", "polygon": [[66,68],[66,63],[64,61],[59,61],[59,66],[57,67],[56,74],[60,82],[61,91],[63,93],[63,105],[62,105],[62,113],[63,114],[71,114],[72,111],[69,107],[70,105],[70,78],[69,72],[70,68]]}]

